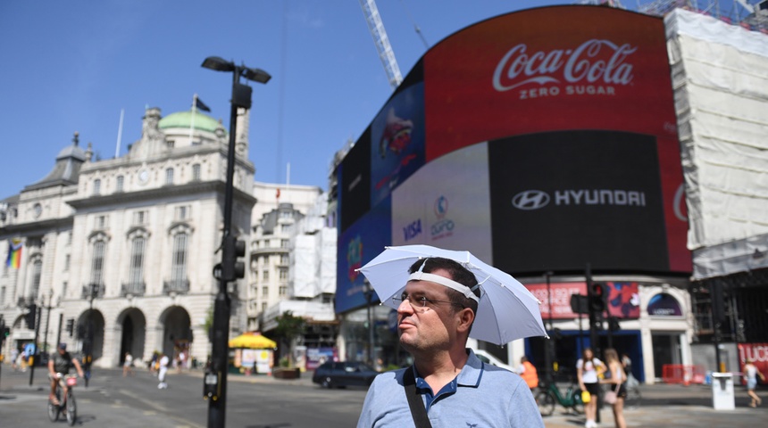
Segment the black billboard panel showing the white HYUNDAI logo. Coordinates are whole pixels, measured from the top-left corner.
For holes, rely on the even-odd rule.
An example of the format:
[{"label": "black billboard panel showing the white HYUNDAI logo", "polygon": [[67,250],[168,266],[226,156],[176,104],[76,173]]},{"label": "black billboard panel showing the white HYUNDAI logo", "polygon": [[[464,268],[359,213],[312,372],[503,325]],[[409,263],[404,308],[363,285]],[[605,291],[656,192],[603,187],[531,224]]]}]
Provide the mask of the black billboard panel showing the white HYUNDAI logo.
[{"label": "black billboard panel showing the white HYUNDAI logo", "polygon": [[654,136],[513,136],[488,144],[488,169],[497,268],[668,271]]}]

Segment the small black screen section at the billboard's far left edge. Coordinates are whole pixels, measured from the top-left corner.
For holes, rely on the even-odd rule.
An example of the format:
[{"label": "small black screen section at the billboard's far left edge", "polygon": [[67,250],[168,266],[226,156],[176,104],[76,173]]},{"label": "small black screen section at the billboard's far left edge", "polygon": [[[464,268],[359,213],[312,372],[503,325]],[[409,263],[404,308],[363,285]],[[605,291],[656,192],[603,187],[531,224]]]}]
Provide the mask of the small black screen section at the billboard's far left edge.
[{"label": "small black screen section at the billboard's far left edge", "polygon": [[371,128],[346,153],[338,177],[340,232],[371,209]]}]

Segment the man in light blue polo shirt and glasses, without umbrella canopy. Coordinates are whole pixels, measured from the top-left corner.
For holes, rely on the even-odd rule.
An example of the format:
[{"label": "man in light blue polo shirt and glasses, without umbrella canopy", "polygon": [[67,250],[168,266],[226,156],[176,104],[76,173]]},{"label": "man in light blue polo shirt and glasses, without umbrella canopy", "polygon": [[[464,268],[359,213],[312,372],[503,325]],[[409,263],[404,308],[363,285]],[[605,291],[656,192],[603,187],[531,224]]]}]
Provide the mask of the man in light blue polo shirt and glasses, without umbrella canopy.
[{"label": "man in light blue polo shirt and glasses, without umbrella canopy", "polygon": [[[484,364],[466,349],[480,297],[472,272],[443,258],[418,260],[409,272],[405,292],[396,299],[397,329],[400,344],[413,355],[413,366],[376,377],[365,397],[358,428],[430,423],[543,427],[522,378]],[[414,390],[407,389],[410,383]],[[406,391],[414,391],[413,407],[409,407]],[[419,420],[422,422],[415,422]]]}]

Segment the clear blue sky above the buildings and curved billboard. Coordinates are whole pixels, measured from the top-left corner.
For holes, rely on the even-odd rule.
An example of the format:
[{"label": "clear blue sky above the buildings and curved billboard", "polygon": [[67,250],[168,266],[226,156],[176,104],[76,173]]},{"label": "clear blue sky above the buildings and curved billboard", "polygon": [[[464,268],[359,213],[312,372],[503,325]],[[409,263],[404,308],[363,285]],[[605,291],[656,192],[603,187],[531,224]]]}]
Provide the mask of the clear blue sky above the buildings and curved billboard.
[{"label": "clear blue sky above the buildings and curved billboard", "polygon": [[[569,1],[380,0],[403,75],[430,45],[506,12]],[[624,2],[628,3],[628,2]],[[637,2],[630,2],[636,6]],[[112,158],[141,134],[145,107],[188,110],[196,93],[229,124],[229,73],[216,55],[268,71],[254,84],[255,179],[326,189],[330,160],[392,90],[355,0],[5,1],[0,4],[0,199],[45,177],[79,132]]]}]

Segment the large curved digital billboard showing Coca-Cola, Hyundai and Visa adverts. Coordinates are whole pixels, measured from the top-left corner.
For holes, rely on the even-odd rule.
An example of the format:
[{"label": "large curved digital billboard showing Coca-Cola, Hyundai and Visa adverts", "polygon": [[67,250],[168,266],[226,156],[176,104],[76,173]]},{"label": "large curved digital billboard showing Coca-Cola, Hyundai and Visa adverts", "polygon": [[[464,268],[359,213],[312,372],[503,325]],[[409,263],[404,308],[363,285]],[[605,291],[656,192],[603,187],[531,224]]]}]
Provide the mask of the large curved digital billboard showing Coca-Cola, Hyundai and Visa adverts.
[{"label": "large curved digital billboard showing Coca-Cola, Hyundai and Visa adverts", "polygon": [[690,272],[659,18],[568,5],[472,25],[425,53],[357,144],[369,158],[347,157],[339,181],[364,165],[368,194],[339,189],[342,235],[391,203],[371,226],[388,244],[513,275]]}]

